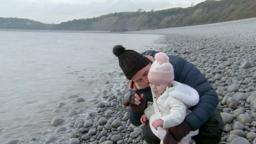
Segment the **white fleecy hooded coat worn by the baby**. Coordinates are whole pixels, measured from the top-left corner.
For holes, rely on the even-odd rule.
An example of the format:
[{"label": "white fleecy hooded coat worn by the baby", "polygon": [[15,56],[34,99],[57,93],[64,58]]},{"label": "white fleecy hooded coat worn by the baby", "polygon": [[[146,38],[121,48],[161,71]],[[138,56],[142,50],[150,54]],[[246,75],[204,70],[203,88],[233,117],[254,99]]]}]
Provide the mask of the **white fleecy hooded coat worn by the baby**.
[{"label": "white fleecy hooded coat worn by the baby", "polygon": [[[199,94],[192,87],[176,81],[173,81],[173,87],[167,87],[166,91],[158,99],[157,94],[154,91],[151,92],[154,103],[145,109],[144,113],[149,119],[151,130],[162,140],[166,133],[164,129],[181,124],[186,115],[191,112],[188,108],[198,103]],[[155,130],[152,123],[159,118],[164,121],[164,124],[163,127],[158,127],[158,130]],[[198,130],[188,137],[190,138],[197,134]]]}]

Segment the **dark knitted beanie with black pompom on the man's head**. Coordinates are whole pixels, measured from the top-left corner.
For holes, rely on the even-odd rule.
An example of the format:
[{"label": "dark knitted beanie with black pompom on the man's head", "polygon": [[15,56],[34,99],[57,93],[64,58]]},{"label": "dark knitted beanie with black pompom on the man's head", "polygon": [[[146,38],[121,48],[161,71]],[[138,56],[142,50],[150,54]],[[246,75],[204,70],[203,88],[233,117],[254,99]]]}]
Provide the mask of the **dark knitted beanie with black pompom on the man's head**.
[{"label": "dark knitted beanie with black pompom on the man's head", "polygon": [[138,52],[133,50],[125,50],[122,45],[116,45],[113,48],[113,53],[118,57],[119,66],[124,72],[124,75],[131,80],[139,70],[146,67],[150,60]]}]

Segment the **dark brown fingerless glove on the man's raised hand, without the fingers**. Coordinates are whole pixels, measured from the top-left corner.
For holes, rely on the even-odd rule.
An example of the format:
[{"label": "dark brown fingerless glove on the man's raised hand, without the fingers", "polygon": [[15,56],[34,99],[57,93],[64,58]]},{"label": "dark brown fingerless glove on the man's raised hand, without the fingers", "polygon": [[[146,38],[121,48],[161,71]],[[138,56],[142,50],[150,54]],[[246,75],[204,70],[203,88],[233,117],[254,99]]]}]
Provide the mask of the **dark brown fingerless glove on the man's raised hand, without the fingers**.
[{"label": "dark brown fingerless glove on the man's raised hand, without the fingers", "polygon": [[140,99],[140,104],[136,105],[135,104],[135,93],[139,94],[139,90],[135,90],[129,97],[127,97],[126,99],[124,99],[123,101],[123,105],[124,106],[129,106],[131,107],[131,110],[133,113],[138,114],[141,111],[144,110],[145,106],[146,106],[146,99],[145,97]]}]

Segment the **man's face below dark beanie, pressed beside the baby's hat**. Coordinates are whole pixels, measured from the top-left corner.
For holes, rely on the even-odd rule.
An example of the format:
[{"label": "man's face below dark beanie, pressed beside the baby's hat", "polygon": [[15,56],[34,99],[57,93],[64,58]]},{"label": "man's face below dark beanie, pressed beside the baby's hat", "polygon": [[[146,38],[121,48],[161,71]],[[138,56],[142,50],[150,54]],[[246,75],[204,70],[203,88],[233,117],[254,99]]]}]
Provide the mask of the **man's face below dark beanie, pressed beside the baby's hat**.
[{"label": "man's face below dark beanie, pressed beside the baby's hat", "polygon": [[151,67],[151,63],[149,63],[146,67],[139,70],[133,77],[132,81],[137,83],[140,86],[149,86],[148,82],[148,71]]}]

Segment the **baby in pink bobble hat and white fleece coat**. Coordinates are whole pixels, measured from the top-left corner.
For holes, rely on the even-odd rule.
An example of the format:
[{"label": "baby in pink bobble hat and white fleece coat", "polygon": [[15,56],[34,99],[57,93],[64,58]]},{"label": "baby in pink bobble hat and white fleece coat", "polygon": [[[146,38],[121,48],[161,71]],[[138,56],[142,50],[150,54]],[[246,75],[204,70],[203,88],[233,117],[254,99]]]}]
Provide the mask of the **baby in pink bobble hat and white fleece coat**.
[{"label": "baby in pink bobble hat and white fleece coat", "polygon": [[[173,79],[174,71],[169,57],[165,53],[157,53],[148,72],[154,102],[144,110],[140,121],[145,125],[149,119],[150,128],[161,139],[161,143],[166,134],[165,129],[181,124],[191,112],[188,108],[195,106],[199,101],[195,89]],[[191,137],[197,134],[198,130],[190,131],[179,143],[189,143]]]}]

